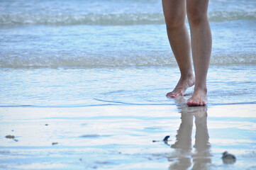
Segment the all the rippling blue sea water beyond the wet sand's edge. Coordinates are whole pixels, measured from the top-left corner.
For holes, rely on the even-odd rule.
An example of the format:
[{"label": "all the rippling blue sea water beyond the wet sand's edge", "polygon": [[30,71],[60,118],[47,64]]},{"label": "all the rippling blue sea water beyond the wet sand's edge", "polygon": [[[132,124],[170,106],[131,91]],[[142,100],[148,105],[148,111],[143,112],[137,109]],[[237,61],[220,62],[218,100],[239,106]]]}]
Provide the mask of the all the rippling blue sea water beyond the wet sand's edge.
[{"label": "all the rippling blue sea water beyond the wet sand's edge", "polygon": [[[256,102],[255,6],[210,1],[209,105]],[[172,105],[179,80],[160,0],[0,1],[0,68],[0,106]]]}]

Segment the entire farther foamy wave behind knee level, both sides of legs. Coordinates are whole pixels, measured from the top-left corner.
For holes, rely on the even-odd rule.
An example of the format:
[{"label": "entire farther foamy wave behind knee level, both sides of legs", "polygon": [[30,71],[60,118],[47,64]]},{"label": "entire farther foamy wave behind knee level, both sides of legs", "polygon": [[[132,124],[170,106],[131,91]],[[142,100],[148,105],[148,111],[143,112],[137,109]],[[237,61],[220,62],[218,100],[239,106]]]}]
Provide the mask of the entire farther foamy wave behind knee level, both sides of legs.
[{"label": "entire farther foamy wave behind knee level, both sides of legs", "polygon": [[[208,13],[212,22],[256,20],[256,13],[217,11]],[[0,26],[15,25],[146,25],[164,24],[162,13],[0,13]]]}]

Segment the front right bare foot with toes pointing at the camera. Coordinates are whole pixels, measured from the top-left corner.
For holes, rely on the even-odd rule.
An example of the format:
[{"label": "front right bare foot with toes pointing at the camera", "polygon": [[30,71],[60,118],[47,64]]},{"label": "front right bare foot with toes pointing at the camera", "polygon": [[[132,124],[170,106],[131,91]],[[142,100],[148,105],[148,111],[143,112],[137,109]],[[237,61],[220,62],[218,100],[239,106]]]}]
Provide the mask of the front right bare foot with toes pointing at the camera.
[{"label": "front right bare foot with toes pointing at the camera", "polygon": [[198,89],[194,91],[194,94],[187,101],[188,106],[206,106],[207,100],[207,90]]}]

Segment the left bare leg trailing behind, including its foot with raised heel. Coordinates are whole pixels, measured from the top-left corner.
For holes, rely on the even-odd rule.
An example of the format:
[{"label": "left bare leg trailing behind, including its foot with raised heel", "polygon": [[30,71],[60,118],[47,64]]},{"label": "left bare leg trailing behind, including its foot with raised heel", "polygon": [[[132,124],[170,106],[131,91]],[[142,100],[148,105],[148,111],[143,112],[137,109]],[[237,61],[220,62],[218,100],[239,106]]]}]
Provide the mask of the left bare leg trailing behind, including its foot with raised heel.
[{"label": "left bare leg trailing behind, including its foot with raised heel", "polygon": [[185,91],[194,85],[194,74],[191,67],[190,40],[185,25],[186,1],[185,0],[162,0],[167,35],[172,52],[179,65],[181,77],[177,86],[167,97],[184,96]]}]

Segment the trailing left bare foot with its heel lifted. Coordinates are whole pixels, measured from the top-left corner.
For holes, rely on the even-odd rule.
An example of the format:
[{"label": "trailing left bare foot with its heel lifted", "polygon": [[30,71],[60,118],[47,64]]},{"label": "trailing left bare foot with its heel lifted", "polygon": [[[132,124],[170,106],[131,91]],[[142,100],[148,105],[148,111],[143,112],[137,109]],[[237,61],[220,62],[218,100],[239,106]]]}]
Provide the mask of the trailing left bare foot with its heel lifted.
[{"label": "trailing left bare foot with its heel lifted", "polygon": [[187,78],[180,78],[177,86],[172,92],[169,92],[166,96],[170,98],[176,98],[178,96],[184,96],[185,91],[195,84],[194,75]]}]

